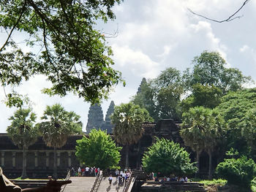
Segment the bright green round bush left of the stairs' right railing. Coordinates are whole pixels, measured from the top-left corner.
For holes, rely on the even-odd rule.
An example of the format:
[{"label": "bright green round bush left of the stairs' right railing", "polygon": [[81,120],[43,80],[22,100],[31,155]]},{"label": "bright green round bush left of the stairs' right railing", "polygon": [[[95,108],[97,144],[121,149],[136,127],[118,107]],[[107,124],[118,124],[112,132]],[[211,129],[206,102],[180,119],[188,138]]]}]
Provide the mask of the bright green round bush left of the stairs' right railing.
[{"label": "bright green round bush left of the stairs' right railing", "polygon": [[117,166],[120,161],[121,147],[116,147],[105,131],[92,129],[89,137],[77,140],[77,144],[75,155],[88,166],[107,169]]}]

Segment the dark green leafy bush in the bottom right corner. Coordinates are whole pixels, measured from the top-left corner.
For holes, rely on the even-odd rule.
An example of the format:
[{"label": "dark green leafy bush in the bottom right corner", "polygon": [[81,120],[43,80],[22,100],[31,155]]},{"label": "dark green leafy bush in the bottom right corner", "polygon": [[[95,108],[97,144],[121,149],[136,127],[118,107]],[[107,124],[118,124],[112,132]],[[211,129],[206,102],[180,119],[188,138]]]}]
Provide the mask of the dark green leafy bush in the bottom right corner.
[{"label": "dark green leafy bush in the bottom right corner", "polygon": [[218,164],[216,172],[219,177],[227,180],[229,184],[249,188],[255,175],[255,162],[251,158],[246,158],[246,156],[238,159],[225,159],[225,161]]}]

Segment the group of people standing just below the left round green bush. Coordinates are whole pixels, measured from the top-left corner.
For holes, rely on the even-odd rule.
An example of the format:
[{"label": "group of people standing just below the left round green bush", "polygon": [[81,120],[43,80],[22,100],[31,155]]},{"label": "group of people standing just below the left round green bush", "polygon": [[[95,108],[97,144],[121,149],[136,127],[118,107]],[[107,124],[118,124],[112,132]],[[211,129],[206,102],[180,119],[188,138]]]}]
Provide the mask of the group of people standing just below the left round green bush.
[{"label": "group of people standing just below the left round green bush", "polygon": [[79,166],[78,169],[72,167],[70,169],[70,175],[71,177],[96,177],[99,171],[99,167]]}]

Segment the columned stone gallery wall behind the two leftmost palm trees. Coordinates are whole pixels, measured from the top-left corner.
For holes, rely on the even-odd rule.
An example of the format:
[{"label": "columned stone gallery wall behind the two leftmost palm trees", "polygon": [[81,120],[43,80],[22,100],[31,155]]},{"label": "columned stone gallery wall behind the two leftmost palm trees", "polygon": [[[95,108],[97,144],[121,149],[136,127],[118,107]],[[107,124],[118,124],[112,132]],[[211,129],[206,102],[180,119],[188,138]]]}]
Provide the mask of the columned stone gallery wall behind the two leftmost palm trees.
[{"label": "columned stone gallery wall behind the two leftmost palm trees", "polygon": [[[67,144],[57,150],[58,176],[66,177],[69,167],[78,167],[75,156],[75,141],[81,135],[70,135]],[[22,150],[13,145],[7,134],[0,134],[0,166],[10,178],[20,177],[22,172]],[[46,178],[53,174],[53,148],[47,147],[42,137],[27,151],[26,170],[29,177]]]}]

